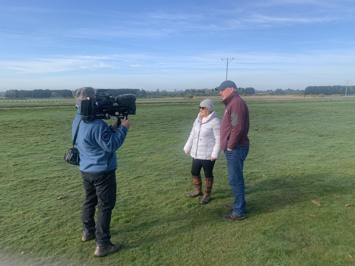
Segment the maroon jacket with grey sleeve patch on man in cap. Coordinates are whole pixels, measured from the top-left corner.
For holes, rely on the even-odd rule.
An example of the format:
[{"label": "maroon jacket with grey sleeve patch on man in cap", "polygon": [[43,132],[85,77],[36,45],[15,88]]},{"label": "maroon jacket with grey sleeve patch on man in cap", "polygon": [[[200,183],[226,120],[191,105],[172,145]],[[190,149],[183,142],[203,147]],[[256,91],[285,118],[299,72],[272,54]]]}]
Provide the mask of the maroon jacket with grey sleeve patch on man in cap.
[{"label": "maroon jacket with grey sleeve patch on man in cap", "polygon": [[237,145],[249,147],[249,110],[245,101],[233,92],[221,103],[225,105],[220,129],[221,150],[234,150]]}]

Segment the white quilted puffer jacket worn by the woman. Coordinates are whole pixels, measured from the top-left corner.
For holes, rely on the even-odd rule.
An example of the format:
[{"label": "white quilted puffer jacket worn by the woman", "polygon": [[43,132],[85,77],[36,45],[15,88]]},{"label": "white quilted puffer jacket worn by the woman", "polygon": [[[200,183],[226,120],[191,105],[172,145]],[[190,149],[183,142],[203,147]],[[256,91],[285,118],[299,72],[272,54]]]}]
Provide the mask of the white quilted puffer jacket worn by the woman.
[{"label": "white quilted puffer jacket worn by the woman", "polygon": [[198,113],[184,150],[189,151],[191,157],[195,159],[211,160],[211,157],[218,159],[221,152],[219,147],[221,121],[215,111],[206,119],[206,122],[201,123],[201,113]]}]

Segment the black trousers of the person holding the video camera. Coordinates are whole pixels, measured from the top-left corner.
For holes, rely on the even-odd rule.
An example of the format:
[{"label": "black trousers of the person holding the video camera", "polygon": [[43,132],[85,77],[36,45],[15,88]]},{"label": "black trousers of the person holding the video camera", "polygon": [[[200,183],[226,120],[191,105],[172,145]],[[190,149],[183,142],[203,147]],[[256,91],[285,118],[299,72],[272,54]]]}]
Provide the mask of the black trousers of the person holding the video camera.
[{"label": "black trousers of the person holding the video camera", "polygon": [[[111,214],[116,204],[117,187],[115,170],[105,173],[81,172],[86,193],[81,213],[83,233],[95,233],[97,246],[108,245],[111,239]],[[96,206],[97,221],[95,226]]]}]

